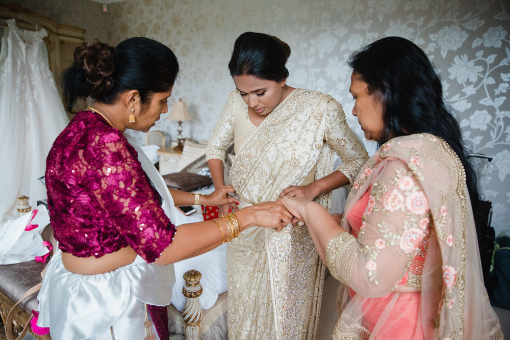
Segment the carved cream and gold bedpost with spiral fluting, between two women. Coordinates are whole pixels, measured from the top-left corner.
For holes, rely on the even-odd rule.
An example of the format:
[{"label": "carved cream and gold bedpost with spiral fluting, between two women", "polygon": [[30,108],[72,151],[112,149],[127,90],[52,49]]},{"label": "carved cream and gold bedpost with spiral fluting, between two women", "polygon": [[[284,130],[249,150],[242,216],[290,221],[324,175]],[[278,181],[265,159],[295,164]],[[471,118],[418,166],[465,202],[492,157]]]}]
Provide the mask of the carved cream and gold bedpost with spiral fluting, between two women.
[{"label": "carved cream and gold bedpost with spiral fluting, between two women", "polygon": [[183,310],[184,335],[187,340],[199,340],[202,319],[202,308],[198,297],[202,294],[200,279],[202,274],[196,270],[189,270],[183,275],[186,284],[183,287],[183,294],[186,297],[186,304]]}]

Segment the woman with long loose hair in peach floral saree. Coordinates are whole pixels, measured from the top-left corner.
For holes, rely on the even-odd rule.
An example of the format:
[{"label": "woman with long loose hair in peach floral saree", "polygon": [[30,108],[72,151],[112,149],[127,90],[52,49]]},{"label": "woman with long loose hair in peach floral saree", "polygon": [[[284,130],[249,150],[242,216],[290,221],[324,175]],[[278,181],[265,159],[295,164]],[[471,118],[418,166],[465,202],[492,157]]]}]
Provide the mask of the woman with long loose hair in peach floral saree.
[{"label": "woman with long loose hair in peach floral saree", "polygon": [[356,177],[338,225],[283,197],[341,281],[334,339],[503,339],[483,285],[478,193],[439,76],[409,40],[355,53],[352,114],[380,148]]}]

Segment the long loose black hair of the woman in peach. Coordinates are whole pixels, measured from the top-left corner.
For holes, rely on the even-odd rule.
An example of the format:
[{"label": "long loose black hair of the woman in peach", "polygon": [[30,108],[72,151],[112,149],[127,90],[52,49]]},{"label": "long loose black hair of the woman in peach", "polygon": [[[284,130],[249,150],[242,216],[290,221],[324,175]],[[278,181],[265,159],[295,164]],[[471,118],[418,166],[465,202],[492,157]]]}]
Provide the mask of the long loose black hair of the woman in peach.
[{"label": "long loose black hair of the woman in peach", "polygon": [[356,51],[348,61],[355,76],[381,100],[384,131],[379,145],[390,138],[429,133],[444,139],[466,171],[473,211],[480,199],[476,175],[468,160],[461,128],[443,98],[441,79],[413,42],[400,37],[377,40]]}]

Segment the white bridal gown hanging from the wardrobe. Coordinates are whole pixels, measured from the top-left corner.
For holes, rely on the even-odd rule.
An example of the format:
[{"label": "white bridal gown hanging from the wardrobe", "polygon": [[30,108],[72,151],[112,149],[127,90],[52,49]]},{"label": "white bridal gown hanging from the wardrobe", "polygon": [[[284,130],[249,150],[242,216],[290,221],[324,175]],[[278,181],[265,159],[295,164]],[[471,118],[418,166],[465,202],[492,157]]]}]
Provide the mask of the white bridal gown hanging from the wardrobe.
[{"label": "white bridal gown hanging from the wardrobe", "polygon": [[46,156],[68,123],[43,38],[44,29],[18,29],[6,20],[0,48],[0,225],[17,217],[16,198],[46,198],[37,180]]}]

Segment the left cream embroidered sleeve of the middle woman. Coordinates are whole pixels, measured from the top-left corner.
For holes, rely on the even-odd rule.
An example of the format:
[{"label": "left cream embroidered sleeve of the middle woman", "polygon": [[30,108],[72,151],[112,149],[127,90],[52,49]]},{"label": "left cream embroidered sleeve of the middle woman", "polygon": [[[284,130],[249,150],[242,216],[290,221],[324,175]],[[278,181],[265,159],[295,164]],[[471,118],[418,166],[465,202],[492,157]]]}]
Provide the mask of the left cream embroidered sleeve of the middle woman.
[{"label": "left cream embroidered sleeve of the middle woman", "polygon": [[221,111],[220,119],[207,143],[206,158],[208,161],[210,159],[224,160],[226,148],[234,140],[234,110],[238,96],[238,91],[232,91]]}]

